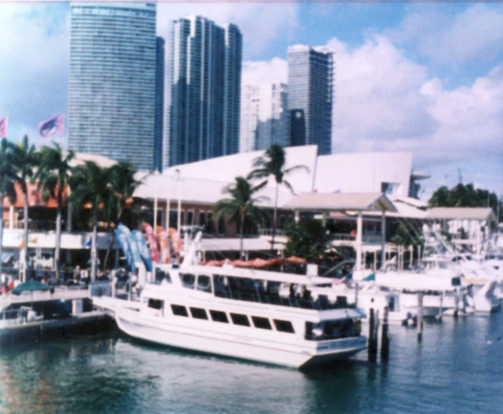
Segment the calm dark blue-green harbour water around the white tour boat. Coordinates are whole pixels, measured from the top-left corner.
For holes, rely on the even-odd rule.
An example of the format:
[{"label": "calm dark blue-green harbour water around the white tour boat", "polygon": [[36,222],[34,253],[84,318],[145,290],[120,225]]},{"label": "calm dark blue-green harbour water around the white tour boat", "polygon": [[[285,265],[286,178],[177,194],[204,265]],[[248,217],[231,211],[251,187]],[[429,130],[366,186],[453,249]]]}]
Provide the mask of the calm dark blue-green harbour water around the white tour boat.
[{"label": "calm dark blue-green harbour water around the white tour boat", "polygon": [[501,413],[503,313],[390,327],[388,363],[308,373],[175,352],[121,335],[0,348],[4,413]]}]

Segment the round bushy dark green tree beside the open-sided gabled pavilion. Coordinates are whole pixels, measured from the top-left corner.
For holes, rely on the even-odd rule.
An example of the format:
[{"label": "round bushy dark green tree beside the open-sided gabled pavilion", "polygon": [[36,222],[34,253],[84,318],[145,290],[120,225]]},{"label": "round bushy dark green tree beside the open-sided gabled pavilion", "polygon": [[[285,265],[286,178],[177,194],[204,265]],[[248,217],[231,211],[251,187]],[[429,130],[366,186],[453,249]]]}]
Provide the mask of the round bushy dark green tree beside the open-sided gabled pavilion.
[{"label": "round bushy dark green tree beside the open-sided gabled pavilion", "polygon": [[306,218],[305,221],[293,221],[285,231],[288,241],[285,246],[287,256],[298,256],[308,261],[319,261],[325,255],[327,235],[319,220]]}]

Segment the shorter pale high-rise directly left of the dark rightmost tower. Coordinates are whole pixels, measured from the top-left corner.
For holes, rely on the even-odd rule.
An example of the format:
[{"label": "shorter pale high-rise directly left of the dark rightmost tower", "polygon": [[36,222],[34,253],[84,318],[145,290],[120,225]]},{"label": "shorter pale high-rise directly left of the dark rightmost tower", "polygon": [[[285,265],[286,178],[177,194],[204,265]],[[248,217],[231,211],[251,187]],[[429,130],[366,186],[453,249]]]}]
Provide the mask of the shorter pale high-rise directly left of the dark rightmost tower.
[{"label": "shorter pale high-rise directly left of the dark rightmost tower", "polygon": [[268,148],[272,143],[288,146],[288,86],[246,85],[241,99],[240,152]]}]

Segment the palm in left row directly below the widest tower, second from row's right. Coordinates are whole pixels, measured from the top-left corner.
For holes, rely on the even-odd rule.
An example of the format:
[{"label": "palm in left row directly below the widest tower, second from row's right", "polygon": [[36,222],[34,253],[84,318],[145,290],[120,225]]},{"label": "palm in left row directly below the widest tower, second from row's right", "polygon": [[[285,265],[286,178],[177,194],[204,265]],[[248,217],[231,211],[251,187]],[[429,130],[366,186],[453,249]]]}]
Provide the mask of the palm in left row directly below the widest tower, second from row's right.
[{"label": "palm in left row directly below the widest tower, second from row's right", "polygon": [[83,208],[91,208],[91,281],[96,280],[96,236],[98,234],[98,212],[106,211],[113,196],[111,186],[111,168],[102,168],[93,161],[86,161],[83,166],[74,169],[70,179],[71,195],[68,201]]}]

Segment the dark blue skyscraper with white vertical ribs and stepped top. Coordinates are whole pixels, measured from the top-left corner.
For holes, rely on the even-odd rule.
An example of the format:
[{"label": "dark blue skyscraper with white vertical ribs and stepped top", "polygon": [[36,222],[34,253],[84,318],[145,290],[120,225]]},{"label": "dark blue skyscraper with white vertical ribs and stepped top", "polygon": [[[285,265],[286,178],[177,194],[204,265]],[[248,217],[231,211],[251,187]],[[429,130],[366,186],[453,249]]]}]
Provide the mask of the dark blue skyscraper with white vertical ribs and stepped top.
[{"label": "dark blue skyscraper with white vertical ribs and stepped top", "polygon": [[173,22],[171,166],[238,152],[242,44],[233,24]]}]

